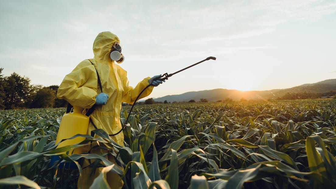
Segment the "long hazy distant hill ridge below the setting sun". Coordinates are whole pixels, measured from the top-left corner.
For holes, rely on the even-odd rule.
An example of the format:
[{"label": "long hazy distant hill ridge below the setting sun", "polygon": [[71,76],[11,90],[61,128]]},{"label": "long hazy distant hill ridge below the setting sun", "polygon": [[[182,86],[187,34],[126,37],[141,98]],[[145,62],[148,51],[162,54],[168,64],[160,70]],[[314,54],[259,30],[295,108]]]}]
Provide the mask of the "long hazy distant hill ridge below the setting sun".
[{"label": "long hazy distant hill ridge below the setting sun", "polygon": [[[189,100],[199,101],[201,98],[206,98],[208,101],[218,101],[224,100],[225,98],[231,98],[233,100],[241,100],[242,98],[246,100],[250,99],[281,99],[287,97],[288,95],[295,94],[296,96],[305,94],[316,94],[323,95],[324,93],[330,93],[334,91],[336,93],[336,79],[330,79],[321,81],[313,84],[304,84],[297,87],[292,87],[288,89],[273,89],[268,91],[239,91],[239,90],[228,90],[228,89],[213,89],[205,91],[193,91],[186,92],[179,95],[167,95],[160,98],[155,98],[155,101],[163,102],[167,100],[168,102],[187,102]],[[322,97],[322,96],[321,96]]]}]

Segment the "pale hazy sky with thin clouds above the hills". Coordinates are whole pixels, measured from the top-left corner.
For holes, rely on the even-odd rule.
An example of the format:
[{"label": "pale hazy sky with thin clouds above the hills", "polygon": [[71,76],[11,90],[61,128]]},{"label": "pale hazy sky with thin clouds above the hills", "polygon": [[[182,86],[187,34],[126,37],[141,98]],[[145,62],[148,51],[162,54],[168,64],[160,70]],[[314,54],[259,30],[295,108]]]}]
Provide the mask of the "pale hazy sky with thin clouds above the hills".
[{"label": "pale hazy sky with thin clouds above the hills", "polygon": [[119,37],[119,65],[131,86],[217,58],[170,77],[146,98],[336,79],[336,0],[3,0],[0,24],[2,74],[36,85],[59,85],[93,58],[103,31]]}]

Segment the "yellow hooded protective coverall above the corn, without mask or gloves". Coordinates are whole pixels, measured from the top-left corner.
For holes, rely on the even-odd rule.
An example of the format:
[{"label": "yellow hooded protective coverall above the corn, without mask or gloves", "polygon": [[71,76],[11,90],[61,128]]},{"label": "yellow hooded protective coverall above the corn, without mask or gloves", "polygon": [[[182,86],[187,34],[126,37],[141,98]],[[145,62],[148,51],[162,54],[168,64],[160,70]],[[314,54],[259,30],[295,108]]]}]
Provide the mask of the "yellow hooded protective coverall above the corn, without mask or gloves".
[{"label": "yellow hooded protective coverall above the corn, without mask or gloves", "polygon": [[[110,58],[111,47],[114,42],[120,42],[119,38],[111,32],[99,33],[93,43],[94,58],[80,62],[76,68],[65,76],[59,85],[57,97],[67,100],[73,106],[90,108],[95,104],[95,97],[104,92],[109,95],[106,105],[96,105],[90,115],[98,129],[103,129],[108,134],[114,134],[121,130],[120,109],[121,103],[133,104],[139,93],[149,85],[150,77],[144,78],[135,88],[129,86],[127,72]],[[98,71],[102,89],[97,83]],[[140,96],[151,94],[153,86],[148,87]],[[87,134],[95,128],[90,123]],[[119,145],[123,145],[124,135],[121,132],[111,137]]]}]

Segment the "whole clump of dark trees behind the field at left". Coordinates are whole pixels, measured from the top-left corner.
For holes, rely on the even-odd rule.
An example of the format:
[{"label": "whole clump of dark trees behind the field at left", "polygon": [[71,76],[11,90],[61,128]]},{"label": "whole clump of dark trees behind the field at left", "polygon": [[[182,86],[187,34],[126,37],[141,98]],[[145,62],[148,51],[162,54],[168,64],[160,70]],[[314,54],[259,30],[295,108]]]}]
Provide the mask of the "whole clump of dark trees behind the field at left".
[{"label": "whole clump of dark trees behind the field at left", "polygon": [[15,72],[2,75],[0,68],[0,109],[65,107],[68,102],[56,98],[58,85],[32,85],[28,77]]}]

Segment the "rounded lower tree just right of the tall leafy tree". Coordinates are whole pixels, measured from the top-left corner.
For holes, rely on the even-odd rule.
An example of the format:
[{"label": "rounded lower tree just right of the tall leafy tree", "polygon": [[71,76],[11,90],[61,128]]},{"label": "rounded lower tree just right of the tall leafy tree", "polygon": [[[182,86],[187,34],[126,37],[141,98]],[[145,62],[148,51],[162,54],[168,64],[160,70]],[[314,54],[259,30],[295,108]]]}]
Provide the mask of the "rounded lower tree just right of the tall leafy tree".
[{"label": "rounded lower tree just right of the tall leafy tree", "polygon": [[52,108],[55,103],[55,91],[49,87],[39,89],[33,97],[32,108]]}]

